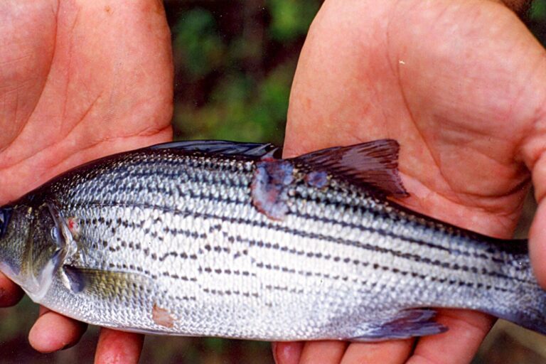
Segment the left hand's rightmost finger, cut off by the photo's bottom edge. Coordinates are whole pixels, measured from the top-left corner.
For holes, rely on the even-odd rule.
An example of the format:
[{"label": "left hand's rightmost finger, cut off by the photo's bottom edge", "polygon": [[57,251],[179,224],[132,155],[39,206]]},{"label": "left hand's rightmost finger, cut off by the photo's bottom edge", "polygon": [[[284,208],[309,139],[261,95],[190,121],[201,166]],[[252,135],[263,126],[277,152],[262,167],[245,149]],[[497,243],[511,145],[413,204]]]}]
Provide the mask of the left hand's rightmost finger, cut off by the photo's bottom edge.
[{"label": "left hand's rightmost finger, cut off by the photo's bottom edge", "polygon": [[95,364],[139,363],[144,335],[101,328]]}]

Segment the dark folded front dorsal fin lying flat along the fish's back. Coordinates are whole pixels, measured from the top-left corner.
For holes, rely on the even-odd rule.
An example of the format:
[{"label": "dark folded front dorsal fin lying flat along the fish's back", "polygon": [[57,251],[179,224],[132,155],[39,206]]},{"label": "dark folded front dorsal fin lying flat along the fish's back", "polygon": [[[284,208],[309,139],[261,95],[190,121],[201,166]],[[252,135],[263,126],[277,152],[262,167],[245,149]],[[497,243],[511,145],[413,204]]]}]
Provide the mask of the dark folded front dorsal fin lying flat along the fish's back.
[{"label": "dark folded front dorsal fin lying flat along the fish's back", "polygon": [[281,149],[270,143],[241,143],[224,140],[190,140],[171,141],[170,143],[156,144],[151,149],[178,149],[184,151],[202,151],[218,154],[240,154],[243,156],[262,157],[277,154]]}]

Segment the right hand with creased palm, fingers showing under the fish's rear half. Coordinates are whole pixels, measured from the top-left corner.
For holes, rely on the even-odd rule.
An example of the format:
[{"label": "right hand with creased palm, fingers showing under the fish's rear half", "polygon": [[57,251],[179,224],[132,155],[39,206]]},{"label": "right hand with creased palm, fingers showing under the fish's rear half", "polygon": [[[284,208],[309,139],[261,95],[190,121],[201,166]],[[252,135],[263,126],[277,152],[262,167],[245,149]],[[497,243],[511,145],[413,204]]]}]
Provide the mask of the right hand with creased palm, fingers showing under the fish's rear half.
[{"label": "right hand with creased palm, fingers showing under the fish's rear half", "polygon": [[[513,1],[513,6],[520,5]],[[528,191],[546,287],[546,53],[500,1],[331,1],[311,26],[291,91],[284,152],[400,141],[426,215],[510,237]],[[443,309],[449,331],[414,341],[277,343],[277,364],[469,363],[493,320]]]}]

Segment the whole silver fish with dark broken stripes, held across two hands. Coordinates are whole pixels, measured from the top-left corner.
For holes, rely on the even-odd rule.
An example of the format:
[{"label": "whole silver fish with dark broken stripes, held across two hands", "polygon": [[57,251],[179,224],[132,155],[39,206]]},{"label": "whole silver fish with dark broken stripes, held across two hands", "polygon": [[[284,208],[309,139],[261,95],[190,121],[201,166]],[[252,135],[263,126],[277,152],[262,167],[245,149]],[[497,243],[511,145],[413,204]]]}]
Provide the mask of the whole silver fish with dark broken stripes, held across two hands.
[{"label": "whole silver fish with dark broken stripes, held across two hands", "polygon": [[399,151],[178,141],[107,156],[0,208],[0,270],[48,309],[139,333],[382,341],[445,332],[438,308],[546,333],[527,242],[396,203]]}]

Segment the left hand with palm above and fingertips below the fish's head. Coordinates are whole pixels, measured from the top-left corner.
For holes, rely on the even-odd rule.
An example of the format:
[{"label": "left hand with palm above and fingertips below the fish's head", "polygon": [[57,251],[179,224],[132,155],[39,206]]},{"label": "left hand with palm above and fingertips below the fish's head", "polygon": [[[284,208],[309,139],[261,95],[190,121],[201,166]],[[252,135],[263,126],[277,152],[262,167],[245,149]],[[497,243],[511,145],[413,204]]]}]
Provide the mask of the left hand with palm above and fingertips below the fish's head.
[{"label": "left hand with palm above and fingertips below the fish's head", "polygon": [[[59,173],[171,139],[173,66],[161,2],[0,2],[0,205]],[[0,306],[21,298],[0,274]],[[41,309],[44,353],[85,326]],[[104,329],[97,363],[137,363],[142,337]]]}]

